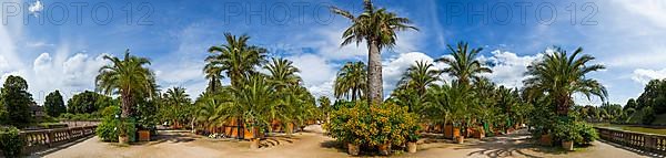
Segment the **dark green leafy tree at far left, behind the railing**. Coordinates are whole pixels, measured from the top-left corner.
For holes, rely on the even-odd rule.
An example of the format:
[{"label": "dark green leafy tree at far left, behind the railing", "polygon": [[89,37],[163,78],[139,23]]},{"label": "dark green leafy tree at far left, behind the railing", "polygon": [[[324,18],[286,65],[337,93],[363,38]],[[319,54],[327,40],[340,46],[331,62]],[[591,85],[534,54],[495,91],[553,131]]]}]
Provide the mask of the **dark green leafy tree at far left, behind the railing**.
[{"label": "dark green leafy tree at far left, behind the railing", "polygon": [[28,83],[20,76],[10,75],[1,89],[2,105],[7,109],[9,125],[26,127],[32,122],[30,105],[32,95],[28,93]]}]

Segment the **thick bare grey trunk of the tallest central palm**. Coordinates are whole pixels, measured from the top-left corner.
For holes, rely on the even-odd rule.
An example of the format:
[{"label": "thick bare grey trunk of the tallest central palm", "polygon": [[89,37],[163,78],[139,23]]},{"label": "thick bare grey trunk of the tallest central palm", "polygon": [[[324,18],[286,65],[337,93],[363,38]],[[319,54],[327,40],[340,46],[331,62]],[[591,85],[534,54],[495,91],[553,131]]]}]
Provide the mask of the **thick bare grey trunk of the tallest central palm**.
[{"label": "thick bare grey trunk of the tallest central palm", "polygon": [[376,40],[369,41],[369,57],[367,57],[367,86],[369,98],[371,104],[381,104],[383,98],[382,87],[382,54]]}]

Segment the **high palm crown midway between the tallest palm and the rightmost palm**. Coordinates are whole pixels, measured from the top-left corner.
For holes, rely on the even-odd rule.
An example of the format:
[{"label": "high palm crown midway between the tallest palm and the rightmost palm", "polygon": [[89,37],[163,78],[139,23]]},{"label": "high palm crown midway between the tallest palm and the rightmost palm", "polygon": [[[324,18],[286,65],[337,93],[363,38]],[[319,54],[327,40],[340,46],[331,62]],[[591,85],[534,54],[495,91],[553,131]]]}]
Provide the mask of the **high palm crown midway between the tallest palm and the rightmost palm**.
[{"label": "high palm crown midway between the tallest palm and the rightmost palm", "polygon": [[447,46],[453,59],[441,57],[435,60],[435,62],[447,64],[450,67],[442,71],[451,76],[455,76],[460,85],[468,85],[470,80],[481,80],[481,76],[478,76],[481,73],[493,73],[491,69],[483,66],[476,60],[478,52],[483,50],[482,48],[470,50],[468,44],[464,42],[460,42],[456,49],[452,45]]}]

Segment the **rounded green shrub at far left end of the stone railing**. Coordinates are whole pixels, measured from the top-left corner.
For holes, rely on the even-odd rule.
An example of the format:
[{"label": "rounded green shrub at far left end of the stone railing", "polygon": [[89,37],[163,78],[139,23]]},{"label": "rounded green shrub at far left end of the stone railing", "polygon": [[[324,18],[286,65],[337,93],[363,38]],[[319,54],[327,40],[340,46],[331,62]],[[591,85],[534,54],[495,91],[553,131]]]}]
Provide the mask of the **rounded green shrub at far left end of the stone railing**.
[{"label": "rounded green shrub at far left end of the stone railing", "polygon": [[23,149],[23,139],[16,127],[0,128],[0,149],[2,155],[8,158],[21,156]]}]

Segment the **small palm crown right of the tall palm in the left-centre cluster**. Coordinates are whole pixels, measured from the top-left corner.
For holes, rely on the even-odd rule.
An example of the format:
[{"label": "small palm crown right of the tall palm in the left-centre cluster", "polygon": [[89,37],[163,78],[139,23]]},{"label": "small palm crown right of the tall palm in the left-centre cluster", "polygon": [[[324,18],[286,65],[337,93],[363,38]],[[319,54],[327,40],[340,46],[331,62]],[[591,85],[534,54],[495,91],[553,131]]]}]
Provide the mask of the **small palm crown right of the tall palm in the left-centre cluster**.
[{"label": "small palm crown right of the tall palm in the left-centre cluster", "polygon": [[269,81],[275,84],[275,87],[279,89],[297,85],[301,82],[301,76],[296,74],[301,71],[293,65],[292,61],[272,59],[272,62],[264,65],[264,69],[270,73]]}]

